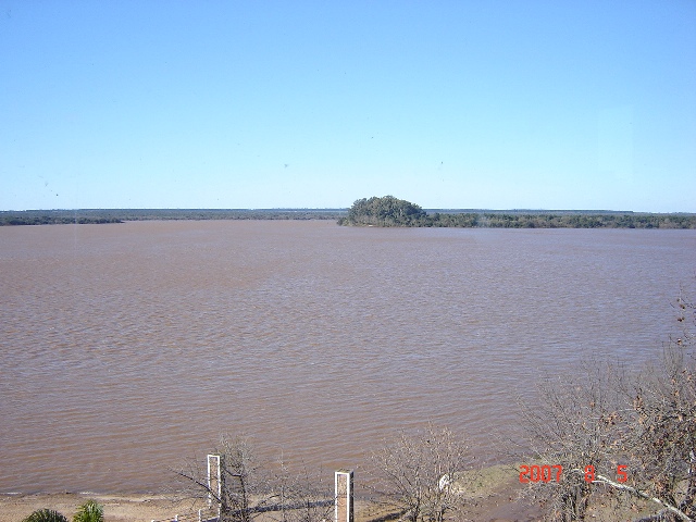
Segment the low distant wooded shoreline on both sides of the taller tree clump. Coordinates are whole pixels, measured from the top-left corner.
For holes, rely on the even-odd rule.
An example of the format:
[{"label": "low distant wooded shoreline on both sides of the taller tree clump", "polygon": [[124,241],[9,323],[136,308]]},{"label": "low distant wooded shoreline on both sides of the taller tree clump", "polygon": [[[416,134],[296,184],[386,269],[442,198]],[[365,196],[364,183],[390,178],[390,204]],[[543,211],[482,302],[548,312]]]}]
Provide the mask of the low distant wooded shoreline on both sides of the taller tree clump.
[{"label": "low distant wooded shoreline on both sides of the taller tree clump", "polygon": [[[406,226],[459,228],[696,229],[696,213],[610,210],[426,209],[427,220]],[[0,211],[0,226],[109,224],[128,221],[324,220],[346,224],[348,209],[78,209]],[[380,225],[377,225],[380,226]],[[383,226],[395,226],[385,223]],[[399,226],[399,225],[397,225]],[[403,226],[403,225],[400,225]]]}]

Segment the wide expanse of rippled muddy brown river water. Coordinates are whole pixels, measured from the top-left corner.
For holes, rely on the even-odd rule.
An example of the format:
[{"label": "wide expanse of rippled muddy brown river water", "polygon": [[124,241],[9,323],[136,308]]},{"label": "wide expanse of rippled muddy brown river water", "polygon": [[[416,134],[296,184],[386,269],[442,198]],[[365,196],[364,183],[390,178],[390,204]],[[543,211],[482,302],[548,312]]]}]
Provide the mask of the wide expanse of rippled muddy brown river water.
[{"label": "wide expanse of rippled muddy brown river water", "polygon": [[433,422],[493,459],[544,375],[654,359],[695,271],[696,231],[0,227],[0,493],[159,490],[223,432],[333,470]]}]

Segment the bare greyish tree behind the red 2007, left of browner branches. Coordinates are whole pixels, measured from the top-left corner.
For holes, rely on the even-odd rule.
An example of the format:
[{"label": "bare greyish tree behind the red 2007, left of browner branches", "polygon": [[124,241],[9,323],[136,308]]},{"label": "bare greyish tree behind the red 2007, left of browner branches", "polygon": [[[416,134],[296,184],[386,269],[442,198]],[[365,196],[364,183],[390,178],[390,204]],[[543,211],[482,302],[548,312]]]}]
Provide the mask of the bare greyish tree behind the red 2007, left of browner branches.
[{"label": "bare greyish tree behind the red 2007, left of browner branches", "polygon": [[533,455],[520,470],[520,482],[527,484],[525,495],[545,508],[547,520],[585,520],[597,493],[595,474],[618,467],[626,421],[609,372],[596,368],[582,381],[546,381],[540,402],[521,408]]}]

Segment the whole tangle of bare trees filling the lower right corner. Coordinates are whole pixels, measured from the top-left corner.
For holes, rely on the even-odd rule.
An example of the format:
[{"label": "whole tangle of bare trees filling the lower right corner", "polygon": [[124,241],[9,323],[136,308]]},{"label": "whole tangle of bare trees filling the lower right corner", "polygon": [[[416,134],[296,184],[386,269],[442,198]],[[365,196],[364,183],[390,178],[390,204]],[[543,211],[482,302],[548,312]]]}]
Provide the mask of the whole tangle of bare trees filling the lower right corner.
[{"label": "whole tangle of bare trees filling the lower right corner", "polygon": [[[693,318],[694,306],[683,297],[678,310],[682,325],[689,312]],[[643,510],[651,506],[655,512],[641,522],[696,520],[693,339],[684,328],[659,362],[641,373],[596,364],[582,381],[547,382],[539,403],[523,406],[535,463],[562,470],[562,477],[542,477],[535,465],[536,480],[521,470],[525,493],[546,508],[547,520],[585,520],[592,506],[611,498],[616,509],[620,500]]]}]

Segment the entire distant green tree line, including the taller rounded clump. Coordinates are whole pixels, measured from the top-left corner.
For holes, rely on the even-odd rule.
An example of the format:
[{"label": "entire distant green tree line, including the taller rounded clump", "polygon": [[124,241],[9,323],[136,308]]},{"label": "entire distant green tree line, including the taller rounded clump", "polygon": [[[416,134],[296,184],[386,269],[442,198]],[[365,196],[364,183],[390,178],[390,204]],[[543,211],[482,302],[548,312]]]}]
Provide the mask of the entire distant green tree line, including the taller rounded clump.
[{"label": "entire distant green tree line, including the taller rounded clump", "polygon": [[394,196],[358,199],[350,209],[79,209],[0,211],[0,226],[127,221],[334,220],[344,226],[460,228],[696,228],[693,213],[424,210]]}]

